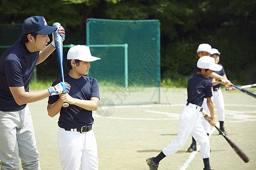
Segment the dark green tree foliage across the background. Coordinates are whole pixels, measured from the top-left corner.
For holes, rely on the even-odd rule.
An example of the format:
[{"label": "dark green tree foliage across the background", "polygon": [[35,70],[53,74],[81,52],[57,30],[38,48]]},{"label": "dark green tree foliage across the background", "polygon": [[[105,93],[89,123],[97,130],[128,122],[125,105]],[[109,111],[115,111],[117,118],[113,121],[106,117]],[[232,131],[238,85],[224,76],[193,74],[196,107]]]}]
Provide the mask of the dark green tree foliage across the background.
[{"label": "dark green tree foliage across the background", "polygon": [[[85,44],[87,18],[159,19],[162,76],[191,75],[197,46],[209,43],[221,52],[220,63],[232,82],[256,82],[255,0],[2,0],[0,4],[0,23],[22,23],[30,15],[42,15],[49,25],[56,21],[64,25],[65,44]],[[47,59],[45,64],[49,63]]]}]

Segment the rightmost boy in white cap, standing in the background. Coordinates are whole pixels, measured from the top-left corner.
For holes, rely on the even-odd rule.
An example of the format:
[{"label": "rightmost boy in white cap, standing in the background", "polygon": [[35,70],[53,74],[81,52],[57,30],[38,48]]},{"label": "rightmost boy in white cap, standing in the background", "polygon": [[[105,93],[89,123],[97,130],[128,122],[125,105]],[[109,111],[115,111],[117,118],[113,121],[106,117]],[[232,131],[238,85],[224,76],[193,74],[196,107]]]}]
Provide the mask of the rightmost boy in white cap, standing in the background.
[{"label": "rightmost boy in white cap, standing in the background", "polygon": [[[213,48],[212,49],[212,55],[211,57],[213,57],[215,59],[215,63],[218,65],[221,65],[220,63],[220,52]],[[222,65],[221,65],[222,66]],[[222,69],[220,71],[214,71],[214,73],[223,76],[225,79],[228,79],[226,77],[226,72],[224,70],[224,67],[222,66]],[[224,121],[225,121],[225,108],[224,108],[224,98],[221,92],[221,84],[222,80],[218,79],[216,80],[215,78],[212,79],[212,86],[213,86],[213,102],[217,107],[217,111],[218,111],[218,121],[220,122],[220,130],[227,135],[228,133],[226,133],[225,129],[224,129]],[[236,88],[235,88],[236,89]],[[232,87],[227,87],[227,90],[231,91],[234,90],[234,88]],[[221,133],[219,133],[221,134]]]}]

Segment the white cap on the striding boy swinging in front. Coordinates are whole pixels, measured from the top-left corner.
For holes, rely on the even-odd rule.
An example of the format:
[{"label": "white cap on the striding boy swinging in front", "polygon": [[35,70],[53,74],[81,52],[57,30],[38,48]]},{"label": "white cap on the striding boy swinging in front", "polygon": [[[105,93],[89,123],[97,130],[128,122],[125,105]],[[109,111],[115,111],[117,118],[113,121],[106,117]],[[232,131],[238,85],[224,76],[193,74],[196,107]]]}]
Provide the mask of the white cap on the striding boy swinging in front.
[{"label": "white cap on the striding boy swinging in front", "polygon": [[220,71],[222,69],[221,65],[215,63],[215,59],[209,56],[203,56],[197,61],[197,67],[200,69],[210,69],[213,71]]}]

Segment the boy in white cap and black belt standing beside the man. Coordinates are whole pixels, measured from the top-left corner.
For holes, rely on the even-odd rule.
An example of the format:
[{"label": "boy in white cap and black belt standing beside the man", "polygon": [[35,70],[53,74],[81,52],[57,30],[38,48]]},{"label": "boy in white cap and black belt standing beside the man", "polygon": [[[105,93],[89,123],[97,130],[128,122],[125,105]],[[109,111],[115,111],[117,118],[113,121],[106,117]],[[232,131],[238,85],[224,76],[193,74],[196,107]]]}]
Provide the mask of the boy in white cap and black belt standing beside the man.
[{"label": "boy in white cap and black belt standing beside the man", "polygon": [[[65,81],[71,85],[69,94],[50,96],[47,111],[53,117],[60,112],[58,146],[63,169],[98,169],[97,143],[92,126],[92,111],[96,111],[100,92],[96,78],[86,76],[93,57],[88,46],[77,45],[67,54],[68,74]],[[57,79],[52,85],[61,82]],[[62,107],[63,103],[69,107]]]}]

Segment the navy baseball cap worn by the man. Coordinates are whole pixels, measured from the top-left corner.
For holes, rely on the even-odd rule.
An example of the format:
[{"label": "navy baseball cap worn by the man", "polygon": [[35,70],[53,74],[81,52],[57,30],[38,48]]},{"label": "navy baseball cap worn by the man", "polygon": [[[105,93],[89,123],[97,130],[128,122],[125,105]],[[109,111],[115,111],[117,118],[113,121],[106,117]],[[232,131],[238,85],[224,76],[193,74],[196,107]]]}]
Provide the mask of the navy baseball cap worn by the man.
[{"label": "navy baseball cap worn by the man", "polygon": [[56,31],[56,29],[57,27],[48,26],[43,16],[30,16],[22,24],[23,34],[35,32],[42,35],[49,35]]}]

